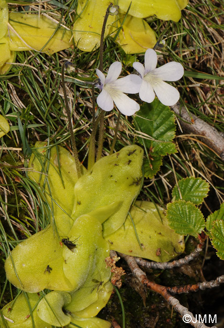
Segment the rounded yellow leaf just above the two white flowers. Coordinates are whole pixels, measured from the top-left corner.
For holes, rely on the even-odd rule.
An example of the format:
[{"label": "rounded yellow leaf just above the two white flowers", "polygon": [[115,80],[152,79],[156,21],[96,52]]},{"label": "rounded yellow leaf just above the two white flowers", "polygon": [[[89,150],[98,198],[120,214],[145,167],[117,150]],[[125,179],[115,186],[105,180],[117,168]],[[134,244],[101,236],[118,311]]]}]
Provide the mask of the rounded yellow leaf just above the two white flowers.
[{"label": "rounded yellow leaf just above the two white flowers", "polygon": [[[120,18],[113,24],[111,36],[120,28],[122,20]],[[122,24],[122,30],[117,36],[116,42],[121,45],[126,53],[139,53],[145,52],[148,48],[153,48],[156,43],[156,36],[149,24],[142,18],[128,15]]]}]

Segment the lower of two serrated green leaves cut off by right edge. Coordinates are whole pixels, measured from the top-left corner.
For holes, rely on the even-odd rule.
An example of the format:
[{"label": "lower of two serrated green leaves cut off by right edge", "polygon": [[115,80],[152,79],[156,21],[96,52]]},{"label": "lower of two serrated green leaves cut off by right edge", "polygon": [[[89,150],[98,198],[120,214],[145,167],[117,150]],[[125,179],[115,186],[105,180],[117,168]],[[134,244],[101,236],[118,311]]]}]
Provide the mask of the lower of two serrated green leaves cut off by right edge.
[{"label": "lower of two serrated green leaves cut off by right edge", "polygon": [[214,248],[217,250],[218,257],[224,260],[224,221],[223,220],[214,221],[210,233],[212,236],[211,243],[214,246]]}]

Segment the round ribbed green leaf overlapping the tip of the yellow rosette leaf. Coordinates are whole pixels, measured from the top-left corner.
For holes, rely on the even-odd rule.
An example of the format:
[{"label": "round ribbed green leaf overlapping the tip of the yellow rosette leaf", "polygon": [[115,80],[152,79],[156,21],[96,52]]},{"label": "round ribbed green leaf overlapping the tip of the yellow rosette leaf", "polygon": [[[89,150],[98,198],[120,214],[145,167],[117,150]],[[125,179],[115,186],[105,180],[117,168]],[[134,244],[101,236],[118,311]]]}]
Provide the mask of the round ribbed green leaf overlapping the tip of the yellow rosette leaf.
[{"label": "round ribbed green leaf overlapping the tip of the yellow rosette leaf", "polygon": [[167,205],[166,217],[170,227],[181,235],[197,237],[205,227],[201,211],[191,202],[177,200]]}]

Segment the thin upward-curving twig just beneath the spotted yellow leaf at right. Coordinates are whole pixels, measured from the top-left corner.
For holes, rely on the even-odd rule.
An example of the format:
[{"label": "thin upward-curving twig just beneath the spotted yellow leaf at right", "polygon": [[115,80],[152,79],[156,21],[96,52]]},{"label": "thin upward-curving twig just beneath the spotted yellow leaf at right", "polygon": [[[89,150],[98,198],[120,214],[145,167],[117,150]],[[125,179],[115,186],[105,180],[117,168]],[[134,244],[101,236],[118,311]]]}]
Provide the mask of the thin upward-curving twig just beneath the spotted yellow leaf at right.
[{"label": "thin upward-curving twig just beneath the spotted yellow leaf at right", "polygon": [[143,260],[140,257],[135,257],[136,262],[147,268],[153,268],[153,269],[172,269],[173,267],[180,267],[184,264],[189,263],[192,261],[195,257],[199,255],[203,247],[203,244],[198,244],[197,248],[189,255],[186,255],[184,258],[180,258],[179,260],[175,260],[173,262],[149,262],[146,260]]}]

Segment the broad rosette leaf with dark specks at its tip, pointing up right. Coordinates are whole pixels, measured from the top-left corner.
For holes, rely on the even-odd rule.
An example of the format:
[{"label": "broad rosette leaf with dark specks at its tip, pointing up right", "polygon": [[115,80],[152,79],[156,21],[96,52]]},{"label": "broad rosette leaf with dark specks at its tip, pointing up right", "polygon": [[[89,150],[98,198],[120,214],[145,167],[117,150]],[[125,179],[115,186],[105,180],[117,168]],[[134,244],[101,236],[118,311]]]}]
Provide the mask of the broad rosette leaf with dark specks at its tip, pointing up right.
[{"label": "broad rosette leaf with dark specks at its tip, pointing up right", "polygon": [[142,158],[143,149],[137,145],[100,158],[75,185],[74,220],[98,207],[122,201],[120,208],[103,223],[104,236],[118,230],[141,186]]}]

